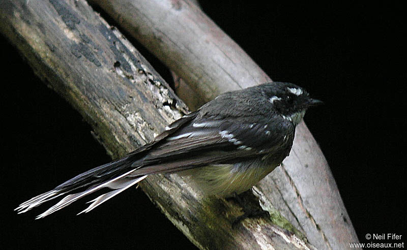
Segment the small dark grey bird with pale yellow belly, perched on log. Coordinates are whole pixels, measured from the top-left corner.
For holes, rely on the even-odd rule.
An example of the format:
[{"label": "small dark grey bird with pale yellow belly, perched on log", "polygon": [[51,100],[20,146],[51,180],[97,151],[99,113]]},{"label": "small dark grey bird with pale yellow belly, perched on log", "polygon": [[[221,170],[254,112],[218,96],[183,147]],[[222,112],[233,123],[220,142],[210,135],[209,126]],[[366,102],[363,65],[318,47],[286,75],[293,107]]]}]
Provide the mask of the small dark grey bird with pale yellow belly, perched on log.
[{"label": "small dark grey bird with pale yellow belly, perched on log", "polygon": [[104,187],[111,189],[82,211],[89,212],[157,173],[189,176],[208,195],[240,194],[281,164],[305,111],[320,103],[303,88],[285,82],[223,93],[122,159],[79,174],[16,210],[23,213],[66,195],[37,216],[42,218]]}]

